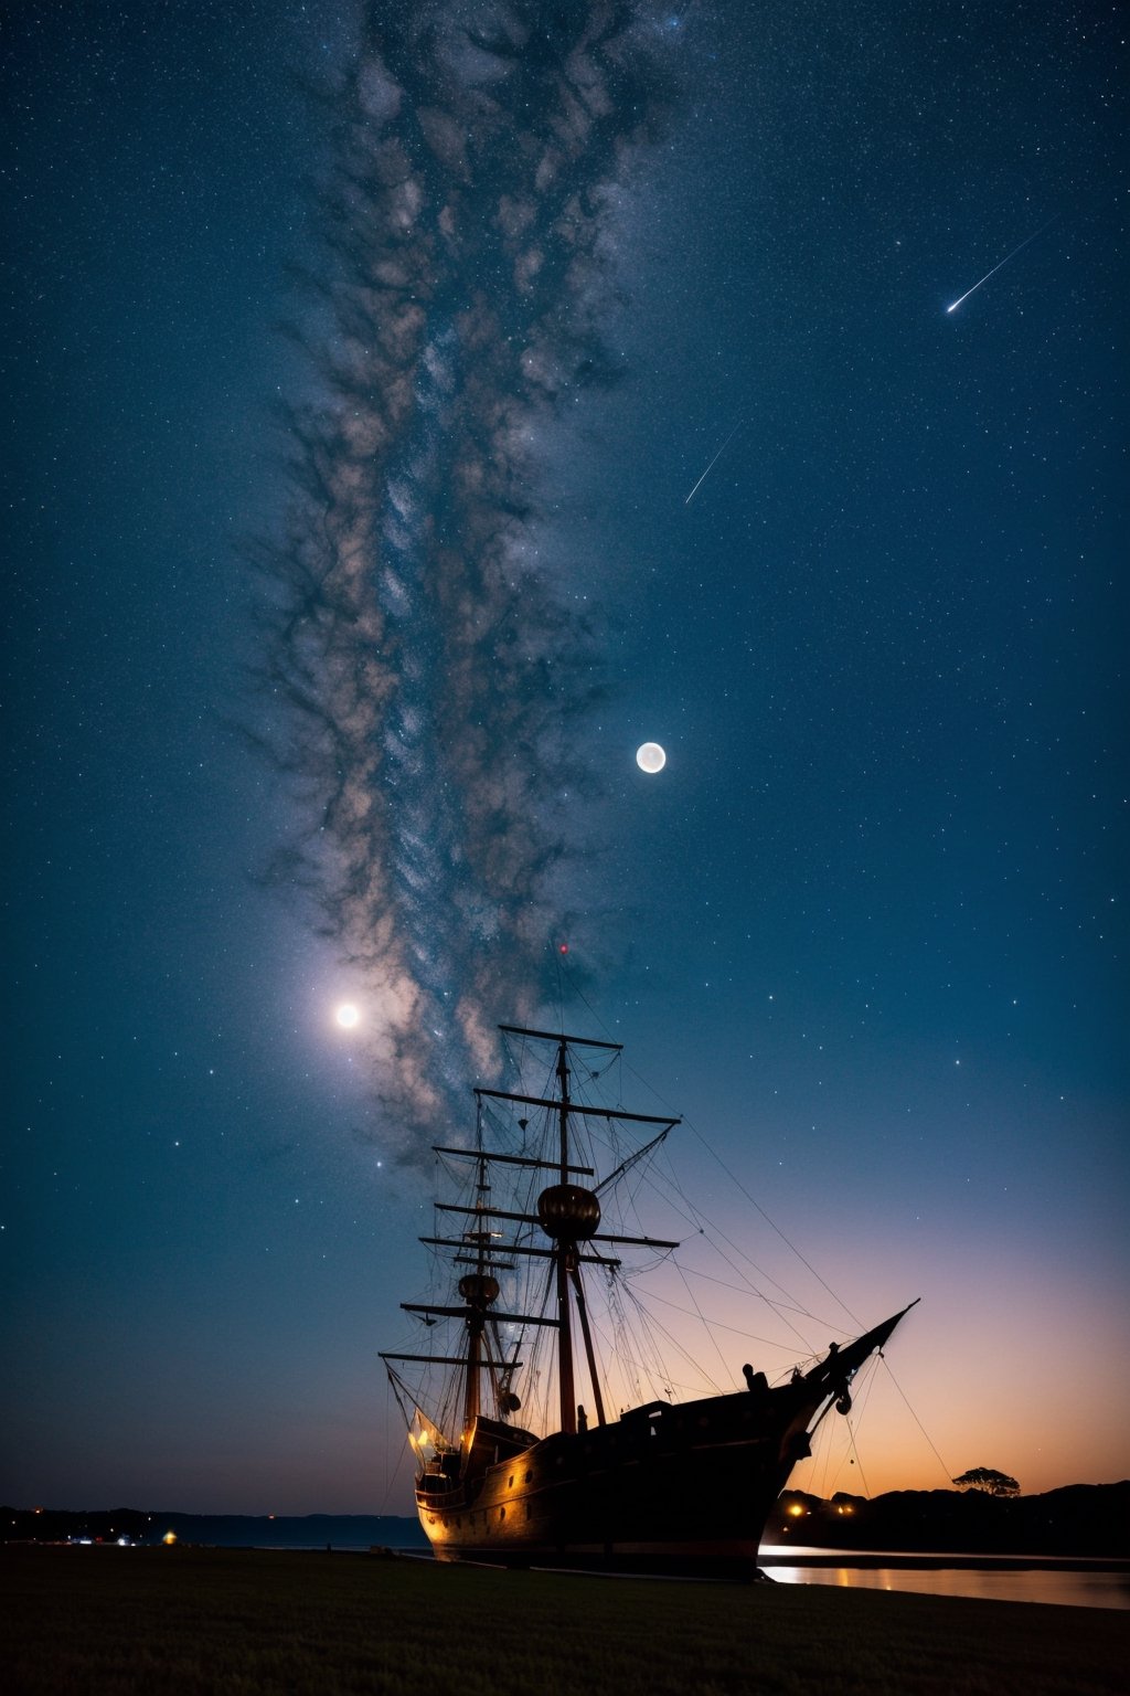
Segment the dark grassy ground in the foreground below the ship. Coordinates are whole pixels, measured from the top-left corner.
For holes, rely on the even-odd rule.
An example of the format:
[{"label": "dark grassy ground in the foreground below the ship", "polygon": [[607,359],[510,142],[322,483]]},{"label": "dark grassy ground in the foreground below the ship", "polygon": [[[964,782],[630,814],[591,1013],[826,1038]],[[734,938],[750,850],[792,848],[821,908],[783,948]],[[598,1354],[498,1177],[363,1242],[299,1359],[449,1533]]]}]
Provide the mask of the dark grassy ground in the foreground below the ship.
[{"label": "dark grassy ground in the foreground below the ship", "polygon": [[349,1554],[10,1548],[0,1586],[19,1696],[1122,1696],[1130,1652],[1094,1608]]}]

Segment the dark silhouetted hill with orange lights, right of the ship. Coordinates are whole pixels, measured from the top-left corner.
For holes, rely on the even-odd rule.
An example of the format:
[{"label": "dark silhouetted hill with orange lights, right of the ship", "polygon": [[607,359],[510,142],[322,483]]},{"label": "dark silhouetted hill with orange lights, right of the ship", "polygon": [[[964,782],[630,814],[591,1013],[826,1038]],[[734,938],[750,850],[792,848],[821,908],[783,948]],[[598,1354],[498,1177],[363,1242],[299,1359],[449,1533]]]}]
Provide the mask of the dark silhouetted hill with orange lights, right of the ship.
[{"label": "dark silhouetted hill with orange lights, right of the ship", "polygon": [[[800,1508],[800,1513],[793,1509]],[[1130,1559],[1130,1481],[1069,1484],[1045,1496],[983,1491],[837,1494],[786,1491],[762,1542],[905,1554],[1105,1555]]]}]

